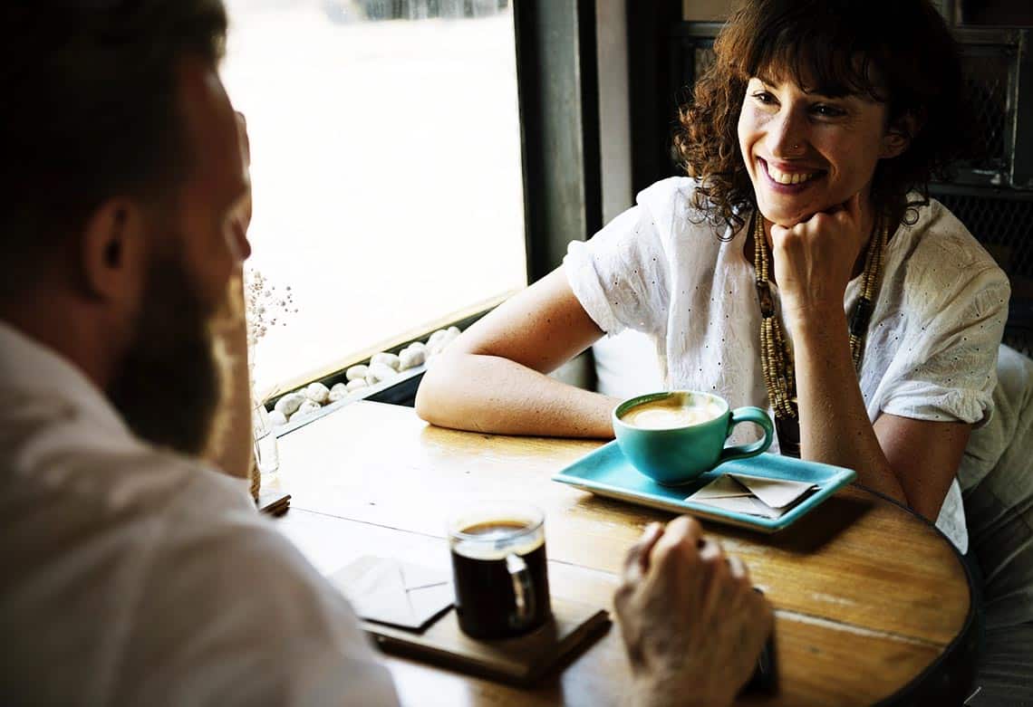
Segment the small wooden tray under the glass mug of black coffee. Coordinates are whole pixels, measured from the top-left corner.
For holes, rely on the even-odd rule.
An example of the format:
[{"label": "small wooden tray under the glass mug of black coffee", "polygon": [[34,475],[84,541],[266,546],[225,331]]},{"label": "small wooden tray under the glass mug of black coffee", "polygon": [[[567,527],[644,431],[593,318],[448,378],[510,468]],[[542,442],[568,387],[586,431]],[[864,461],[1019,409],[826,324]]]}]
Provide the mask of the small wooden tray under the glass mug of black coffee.
[{"label": "small wooden tray under the glass mug of black coffee", "polygon": [[525,636],[480,641],[460,631],[449,609],[422,634],[363,621],[377,645],[387,653],[415,657],[464,673],[516,685],[531,685],[565,664],[609,629],[602,609],[553,597],[553,619]]}]

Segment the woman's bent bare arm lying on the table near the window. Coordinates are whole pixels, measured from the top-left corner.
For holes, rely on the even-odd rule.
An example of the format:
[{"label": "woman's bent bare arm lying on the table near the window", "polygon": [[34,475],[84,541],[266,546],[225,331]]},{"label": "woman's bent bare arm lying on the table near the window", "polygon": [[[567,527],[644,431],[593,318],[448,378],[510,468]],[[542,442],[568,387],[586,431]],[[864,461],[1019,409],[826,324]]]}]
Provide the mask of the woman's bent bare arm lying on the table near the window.
[{"label": "woman's bent bare arm lying on the table near the window", "polygon": [[619,400],[547,376],[602,336],[563,267],[457,339],[427,372],[416,413],[432,424],[505,435],[612,438]]}]

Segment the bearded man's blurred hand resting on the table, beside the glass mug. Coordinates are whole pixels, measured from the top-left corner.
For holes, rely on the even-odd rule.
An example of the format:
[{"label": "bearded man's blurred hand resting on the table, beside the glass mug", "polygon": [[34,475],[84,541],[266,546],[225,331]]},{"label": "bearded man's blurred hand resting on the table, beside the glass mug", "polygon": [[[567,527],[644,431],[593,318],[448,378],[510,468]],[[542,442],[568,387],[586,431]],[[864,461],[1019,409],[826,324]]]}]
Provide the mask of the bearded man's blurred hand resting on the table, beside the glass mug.
[{"label": "bearded man's blurred hand resting on the table, beside the glass mug", "polygon": [[731,704],[774,621],[742,560],[685,516],[646,529],[614,605],[636,706]]}]

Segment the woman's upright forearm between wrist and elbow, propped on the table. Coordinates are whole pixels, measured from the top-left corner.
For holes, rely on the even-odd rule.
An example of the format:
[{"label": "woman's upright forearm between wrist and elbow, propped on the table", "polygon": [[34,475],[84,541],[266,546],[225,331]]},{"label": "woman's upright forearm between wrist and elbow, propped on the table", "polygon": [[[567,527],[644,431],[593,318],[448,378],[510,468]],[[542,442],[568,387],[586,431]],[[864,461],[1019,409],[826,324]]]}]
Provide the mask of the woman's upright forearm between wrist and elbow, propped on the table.
[{"label": "woman's upright forearm between wrist and elbow, propped on the table", "polygon": [[906,504],[868,419],[843,310],[801,318],[792,338],[801,455],[853,469],[859,483]]}]

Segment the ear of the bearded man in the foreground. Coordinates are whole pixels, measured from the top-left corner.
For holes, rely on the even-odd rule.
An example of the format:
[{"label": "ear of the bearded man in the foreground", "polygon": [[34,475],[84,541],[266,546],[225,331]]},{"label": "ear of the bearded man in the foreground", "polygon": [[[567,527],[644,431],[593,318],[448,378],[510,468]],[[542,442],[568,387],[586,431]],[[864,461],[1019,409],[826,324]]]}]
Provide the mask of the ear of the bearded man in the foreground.
[{"label": "ear of the bearded man in the foreground", "polygon": [[80,262],[91,296],[118,300],[136,294],[144,278],[145,223],[143,207],[127,198],[108,199],[90,215]]}]

